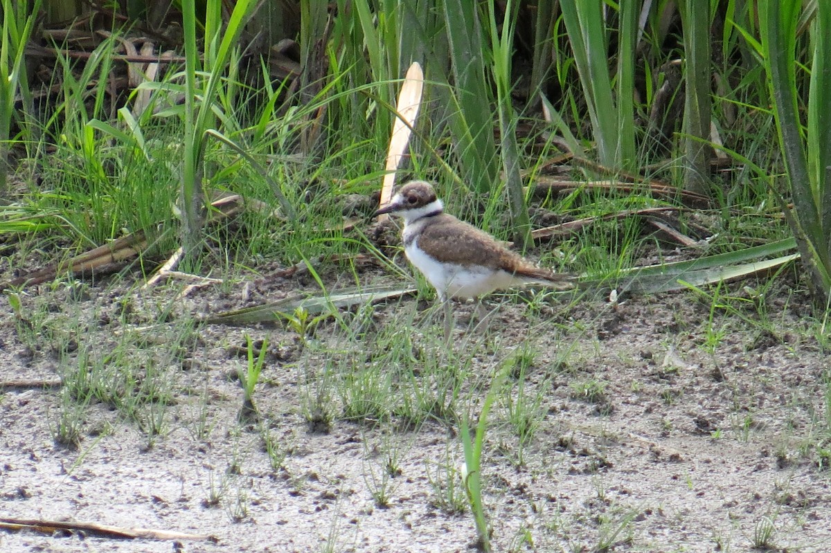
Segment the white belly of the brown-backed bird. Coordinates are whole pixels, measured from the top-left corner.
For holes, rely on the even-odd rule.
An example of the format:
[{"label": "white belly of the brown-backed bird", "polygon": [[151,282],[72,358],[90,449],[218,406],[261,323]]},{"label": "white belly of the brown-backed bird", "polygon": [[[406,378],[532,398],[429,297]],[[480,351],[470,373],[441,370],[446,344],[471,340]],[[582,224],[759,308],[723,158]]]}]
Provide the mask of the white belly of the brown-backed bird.
[{"label": "white belly of the brown-backed bird", "polygon": [[521,282],[514,275],[501,270],[437,262],[419,249],[417,239],[405,248],[405,252],[407,259],[439,292],[442,300],[447,297],[469,299],[484,296],[496,289],[509,288]]}]

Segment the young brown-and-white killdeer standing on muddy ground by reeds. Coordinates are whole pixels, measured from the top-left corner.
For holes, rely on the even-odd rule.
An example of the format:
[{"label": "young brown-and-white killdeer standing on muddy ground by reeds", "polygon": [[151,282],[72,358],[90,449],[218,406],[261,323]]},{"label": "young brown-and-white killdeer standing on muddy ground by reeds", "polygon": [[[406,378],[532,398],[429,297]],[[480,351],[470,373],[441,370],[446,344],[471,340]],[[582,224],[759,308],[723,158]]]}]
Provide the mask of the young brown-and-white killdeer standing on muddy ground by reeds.
[{"label": "young brown-and-white killdeer standing on muddy ground by reeds", "polygon": [[401,240],[407,259],[424,274],[445,303],[445,338],[450,337],[450,298],[470,299],[490,292],[540,284],[573,288],[573,276],[555,274],[525,260],[487,232],[445,213],[430,184],[405,184],[376,216],[404,218]]}]

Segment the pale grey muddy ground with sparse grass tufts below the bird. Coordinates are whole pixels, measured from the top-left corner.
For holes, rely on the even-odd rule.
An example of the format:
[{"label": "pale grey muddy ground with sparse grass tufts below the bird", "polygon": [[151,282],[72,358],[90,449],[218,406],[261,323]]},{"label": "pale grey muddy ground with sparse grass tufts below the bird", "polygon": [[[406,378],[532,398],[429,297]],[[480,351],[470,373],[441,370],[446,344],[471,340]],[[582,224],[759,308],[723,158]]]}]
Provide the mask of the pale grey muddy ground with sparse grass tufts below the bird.
[{"label": "pale grey muddy ground with sparse grass tufts below the bird", "polygon": [[[330,289],[350,278],[325,276]],[[125,331],[144,333],[140,348],[152,352],[193,314],[317,291],[308,276],[243,276],[176,300],[178,281],[150,290],[137,281],[128,273],[27,290],[31,320],[2,313],[0,380],[54,380]],[[466,362],[455,415],[476,416],[494,373],[530,352],[485,435],[494,551],[831,550],[831,389],[817,311],[793,276],[779,276],[762,298],[743,286],[720,292],[740,298],[730,313],[691,292],[631,297],[617,309],[585,295],[492,296],[494,315],[477,332],[465,327],[473,306],[457,306],[453,359]],[[160,316],[165,306],[174,307]],[[463,458],[453,415],[415,426],[395,414],[346,420],[332,384],[331,427],[307,421],[324,369],[372,355],[381,347],[374,334],[405,333],[416,366],[442,358],[433,315],[430,301],[406,297],[375,306],[358,339],[324,321],[305,342],[290,325],[199,326],[160,366],[171,394],[155,436],[93,401],[79,415],[80,443],[67,447],[55,436],[72,402],[59,387],[0,390],[0,516],[209,536],[0,532],[0,551],[471,551],[470,511],[442,502],[464,499],[448,487]],[[238,422],[245,332],[272,345],[254,396],[263,422],[254,424]],[[521,455],[506,422],[520,382],[539,399],[538,428]]]}]

